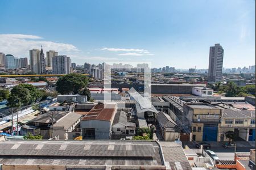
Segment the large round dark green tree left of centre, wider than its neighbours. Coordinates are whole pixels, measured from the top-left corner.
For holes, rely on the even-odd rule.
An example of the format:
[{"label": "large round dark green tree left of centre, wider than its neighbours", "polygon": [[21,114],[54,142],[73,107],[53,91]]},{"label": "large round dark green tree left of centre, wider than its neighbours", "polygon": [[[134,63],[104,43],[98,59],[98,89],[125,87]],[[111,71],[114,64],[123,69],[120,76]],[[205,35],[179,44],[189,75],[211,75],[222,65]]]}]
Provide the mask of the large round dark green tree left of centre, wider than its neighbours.
[{"label": "large round dark green tree left of centre, wider than its neighbours", "polygon": [[88,79],[85,75],[79,73],[71,73],[61,76],[56,82],[56,90],[60,94],[77,94],[79,90],[85,88],[88,84]]}]

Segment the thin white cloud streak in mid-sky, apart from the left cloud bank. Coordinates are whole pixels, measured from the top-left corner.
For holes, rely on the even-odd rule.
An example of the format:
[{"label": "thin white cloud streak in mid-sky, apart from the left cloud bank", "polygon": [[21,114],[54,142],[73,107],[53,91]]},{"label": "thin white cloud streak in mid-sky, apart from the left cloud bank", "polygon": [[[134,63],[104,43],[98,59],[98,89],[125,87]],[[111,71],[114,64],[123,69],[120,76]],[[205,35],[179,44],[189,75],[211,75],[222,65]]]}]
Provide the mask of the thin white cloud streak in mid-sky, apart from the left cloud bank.
[{"label": "thin white cloud streak in mid-sky, apart from the left cloud bank", "polygon": [[154,55],[145,49],[106,48],[105,47],[105,48],[102,48],[101,50],[108,50],[109,52],[127,52],[127,53],[118,54],[118,56],[152,56]]}]

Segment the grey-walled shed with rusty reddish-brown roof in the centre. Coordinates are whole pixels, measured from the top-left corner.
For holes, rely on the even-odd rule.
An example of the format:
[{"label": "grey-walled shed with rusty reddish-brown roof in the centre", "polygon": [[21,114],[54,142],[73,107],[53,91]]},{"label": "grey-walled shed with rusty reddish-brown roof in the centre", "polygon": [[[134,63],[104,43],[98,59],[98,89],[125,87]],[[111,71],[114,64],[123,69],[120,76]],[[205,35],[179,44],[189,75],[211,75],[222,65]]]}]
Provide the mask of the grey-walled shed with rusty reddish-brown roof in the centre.
[{"label": "grey-walled shed with rusty reddish-brown roof in the centre", "polygon": [[83,139],[110,139],[116,104],[97,104],[81,120]]}]

